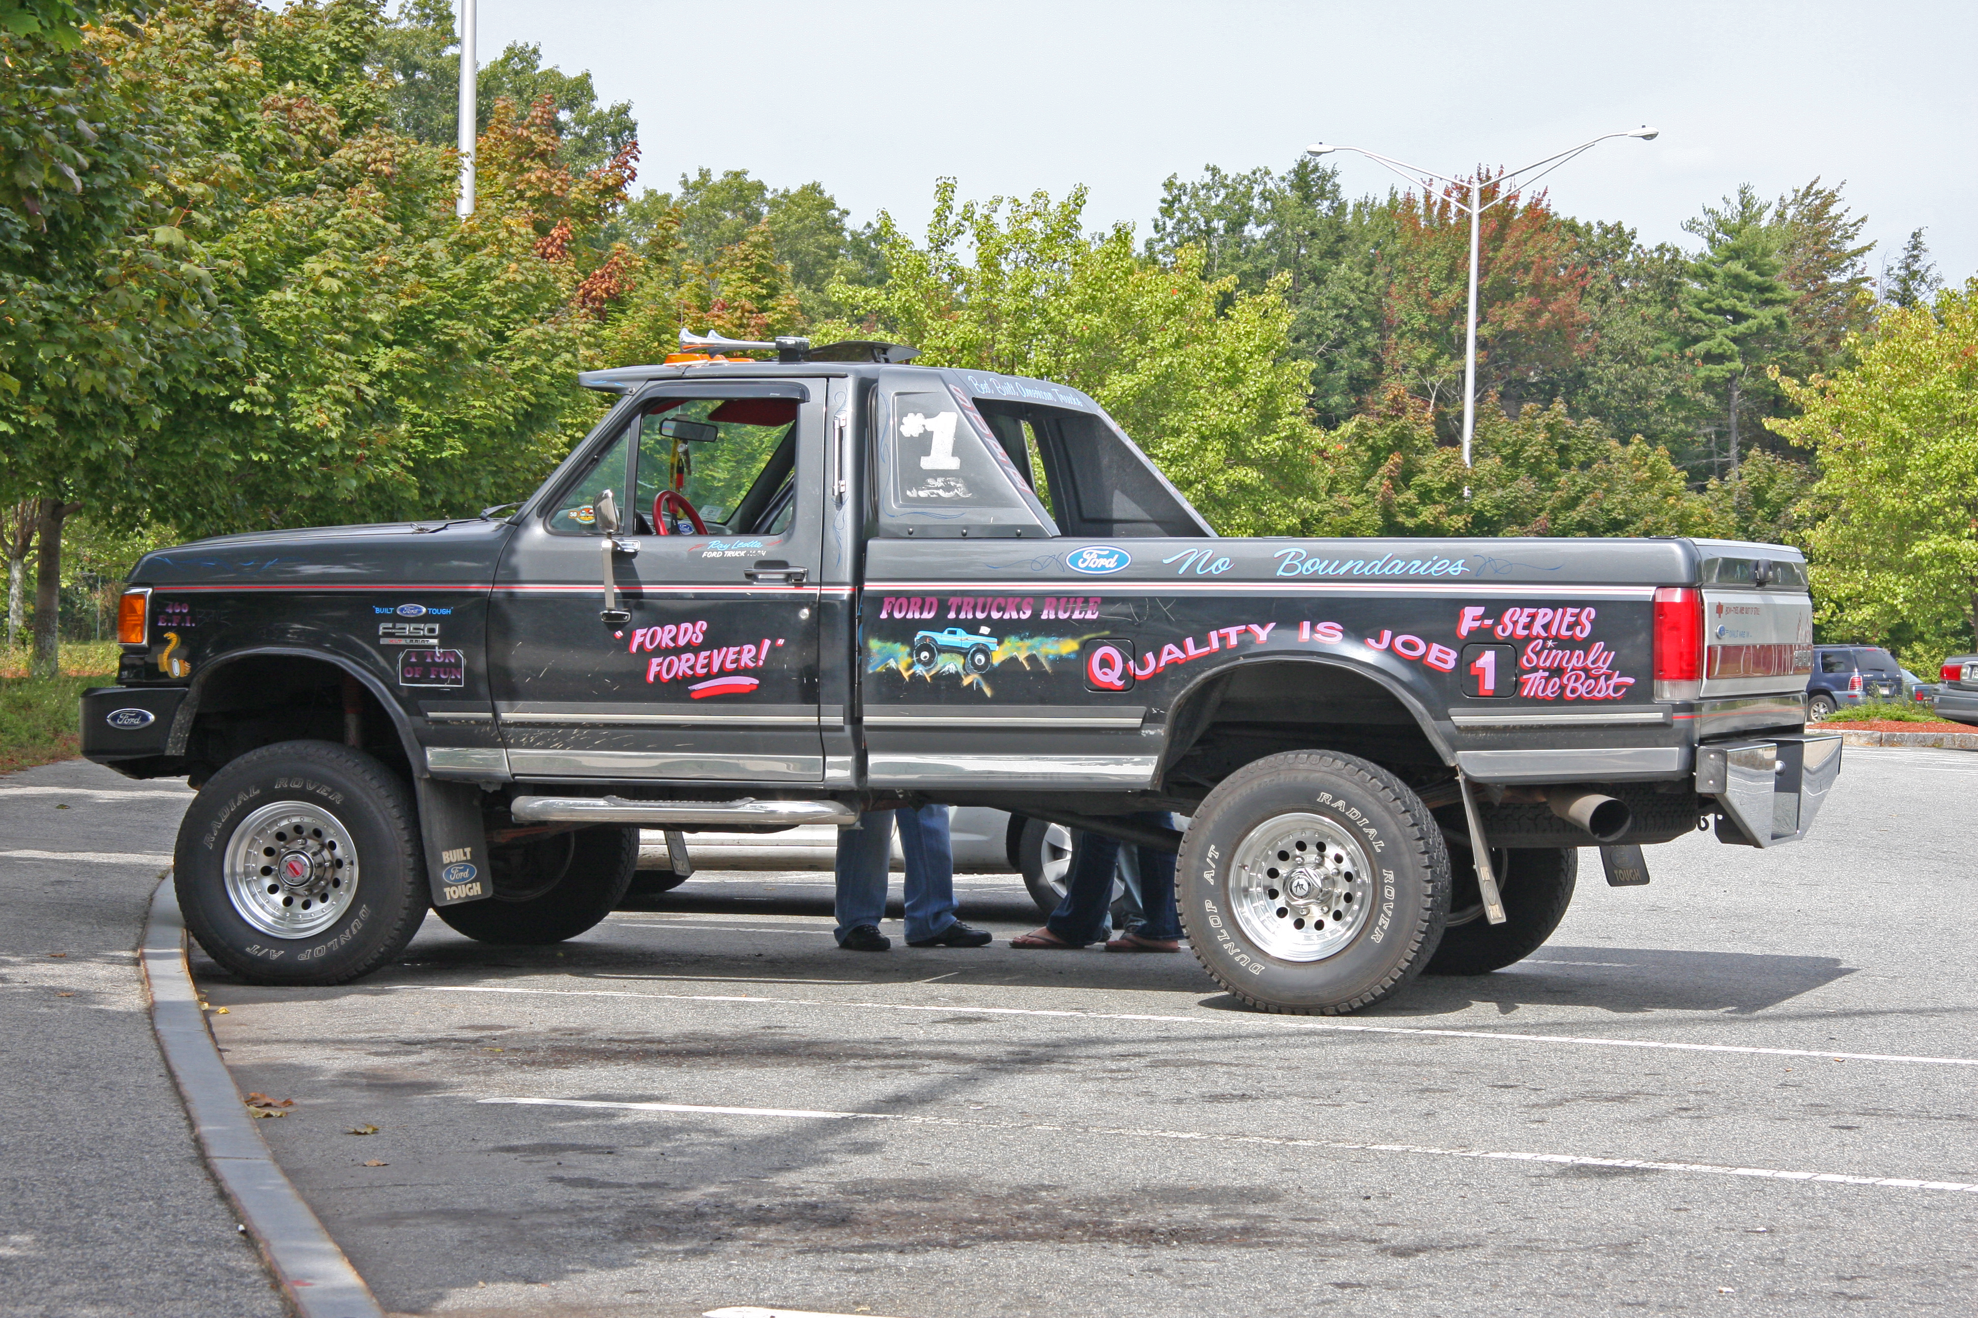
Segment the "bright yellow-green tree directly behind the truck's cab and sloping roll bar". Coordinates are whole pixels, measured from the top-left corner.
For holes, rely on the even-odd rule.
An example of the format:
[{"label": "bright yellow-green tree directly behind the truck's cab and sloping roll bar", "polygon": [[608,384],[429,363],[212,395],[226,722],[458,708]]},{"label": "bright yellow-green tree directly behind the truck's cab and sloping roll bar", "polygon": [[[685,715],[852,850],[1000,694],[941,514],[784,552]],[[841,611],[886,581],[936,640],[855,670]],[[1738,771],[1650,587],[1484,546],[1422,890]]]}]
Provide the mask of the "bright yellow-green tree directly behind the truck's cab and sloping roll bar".
[{"label": "bright yellow-green tree directly behind the truck's cab and sloping roll bar", "polygon": [[1315,490],[1305,368],[1284,277],[1262,294],[1203,277],[1203,251],[1135,255],[1131,225],[1086,235],[1086,194],[955,204],[936,186],[926,245],[880,215],[888,281],[837,285],[849,318],[819,338],[916,344],[930,366],[1046,375],[1084,389],[1218,530],[1298,530]]}]

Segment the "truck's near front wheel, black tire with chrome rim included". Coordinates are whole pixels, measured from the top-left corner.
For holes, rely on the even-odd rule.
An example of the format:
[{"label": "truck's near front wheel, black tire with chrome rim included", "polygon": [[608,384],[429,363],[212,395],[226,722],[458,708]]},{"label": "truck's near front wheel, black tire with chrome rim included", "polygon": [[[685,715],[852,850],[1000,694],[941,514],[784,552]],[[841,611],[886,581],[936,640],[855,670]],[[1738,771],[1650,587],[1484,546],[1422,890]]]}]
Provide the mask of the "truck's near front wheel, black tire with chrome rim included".
[{"label": "truck's near front wheel, black tire with chrome rim included", "polygon": [[281,741],[222,767],[178,826],[172,871],[192,937],[251,984],[370,974],[427,907],[411,792],[328,741]]}]

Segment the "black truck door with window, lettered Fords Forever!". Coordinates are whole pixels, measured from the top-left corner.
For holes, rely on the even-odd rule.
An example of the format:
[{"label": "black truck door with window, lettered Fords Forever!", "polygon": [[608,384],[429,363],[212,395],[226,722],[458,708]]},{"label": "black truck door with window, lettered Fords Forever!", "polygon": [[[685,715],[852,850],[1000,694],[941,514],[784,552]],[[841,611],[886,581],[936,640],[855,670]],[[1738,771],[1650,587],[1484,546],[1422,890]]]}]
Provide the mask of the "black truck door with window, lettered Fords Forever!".
[{"label": "black truck door with window, lettered Fords Forever!", "polygon": [[[817,488],[821,383],[657,385],[518,528],[489,615],[494,709],[518,779],[823,779],[819,508],[781,498],[791,480]],[[605,620],[595,500],[625,488],[637,494],[621,502],[609,561],[629,617]],[[706,534],[684,518],[678,534],[657,534],[661,488],[694,504]],[[669,522],[676,508],[669,500]]]}]

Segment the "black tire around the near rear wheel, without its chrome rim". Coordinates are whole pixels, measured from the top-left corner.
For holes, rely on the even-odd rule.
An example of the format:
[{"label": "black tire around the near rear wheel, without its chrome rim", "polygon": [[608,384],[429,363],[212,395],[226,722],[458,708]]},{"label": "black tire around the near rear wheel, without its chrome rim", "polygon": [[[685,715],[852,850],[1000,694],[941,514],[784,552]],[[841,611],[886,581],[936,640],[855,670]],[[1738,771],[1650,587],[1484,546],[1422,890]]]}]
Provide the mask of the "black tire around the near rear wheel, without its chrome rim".
[{"label": "black tire around the near rear wheel, without its chrome rim", "polygon": [[[1288,814],[1331,820],[1371,858],[1367,915],[1319,960],[1266,952],[1232,901],[1238,846]],[[1183,838],[1175,883],[1197,960],[1266,1012],[1339,1016],[1393,996],[1434,954],[1450,913],[1450,854],[1428,806],[1387,769],[1333,751],[1268,755],[1216,784]]]}]

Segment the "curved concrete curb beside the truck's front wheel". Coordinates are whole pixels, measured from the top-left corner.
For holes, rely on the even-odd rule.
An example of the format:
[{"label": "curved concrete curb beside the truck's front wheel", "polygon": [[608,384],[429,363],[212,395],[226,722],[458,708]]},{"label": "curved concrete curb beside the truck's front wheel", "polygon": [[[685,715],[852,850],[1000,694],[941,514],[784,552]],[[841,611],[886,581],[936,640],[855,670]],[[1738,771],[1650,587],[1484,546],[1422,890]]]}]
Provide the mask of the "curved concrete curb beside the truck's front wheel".
[{"label": "curved concrete curb beside the truck's front wheel", "polygon": [[255,1130],[220,1059],[186,966],[186,923],[170,875],[150,897],[138,960],[150,992],[152,1031],[186,1101],[206,1166],[261,1249],[291,1308],[301,1318],[384,1318],[370,1286],[267,1152],[267,1140]]}]

